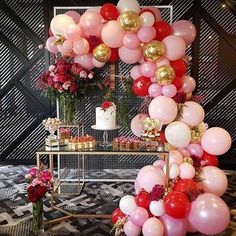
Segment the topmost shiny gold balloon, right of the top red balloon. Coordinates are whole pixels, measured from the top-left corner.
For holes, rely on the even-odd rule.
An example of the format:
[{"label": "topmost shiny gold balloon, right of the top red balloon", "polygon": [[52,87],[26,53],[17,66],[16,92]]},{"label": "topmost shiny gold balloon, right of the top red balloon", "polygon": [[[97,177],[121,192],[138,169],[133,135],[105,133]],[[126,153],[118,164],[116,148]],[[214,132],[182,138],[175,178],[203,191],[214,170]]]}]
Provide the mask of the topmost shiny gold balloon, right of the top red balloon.
[{"label": "topmost shiny gold balloon, right of the top red balloon", "polygon": [[124,11],[118,20],[125,32],[134,33],[140,29],[139,15],[134,11]]}]

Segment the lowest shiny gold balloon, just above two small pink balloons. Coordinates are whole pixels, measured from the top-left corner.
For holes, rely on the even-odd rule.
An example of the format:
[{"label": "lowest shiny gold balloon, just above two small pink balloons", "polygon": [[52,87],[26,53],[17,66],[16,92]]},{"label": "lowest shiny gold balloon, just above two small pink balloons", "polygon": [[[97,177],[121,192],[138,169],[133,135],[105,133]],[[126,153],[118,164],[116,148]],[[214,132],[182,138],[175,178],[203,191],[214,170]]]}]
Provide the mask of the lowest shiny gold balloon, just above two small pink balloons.
[{"label": "lowest shiny gold balloon, just above two small pink balloons", "polygon": [[160,85],[171,84],[175,79],[175,71],[169,65],[160,66],[156,70],[155,77]]}]

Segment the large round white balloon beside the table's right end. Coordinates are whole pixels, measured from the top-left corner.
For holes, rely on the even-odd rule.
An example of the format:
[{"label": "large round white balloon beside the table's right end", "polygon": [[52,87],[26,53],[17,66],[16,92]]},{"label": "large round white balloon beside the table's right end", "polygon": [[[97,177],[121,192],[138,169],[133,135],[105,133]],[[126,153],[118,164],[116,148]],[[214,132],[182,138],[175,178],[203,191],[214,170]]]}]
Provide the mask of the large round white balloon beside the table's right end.
[{"label": "large round white balloon beside the table's right end", "polygon": [[191,141],[190,128],[181,121],[170,123],[165,129],[168,143],[176,148],[185,148]]}]

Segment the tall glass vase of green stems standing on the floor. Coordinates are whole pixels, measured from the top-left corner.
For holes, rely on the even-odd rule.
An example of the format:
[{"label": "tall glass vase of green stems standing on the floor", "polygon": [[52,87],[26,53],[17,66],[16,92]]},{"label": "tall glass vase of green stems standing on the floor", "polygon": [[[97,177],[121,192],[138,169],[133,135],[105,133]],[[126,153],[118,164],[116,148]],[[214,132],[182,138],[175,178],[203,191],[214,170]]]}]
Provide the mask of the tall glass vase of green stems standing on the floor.
[{"label": "tall glass vase of green stems standing on the floor", "polygon": [[44,232],[43,228],[43,199],[33,203],[33,222],[32,231],[34,235],[40,235]]}]

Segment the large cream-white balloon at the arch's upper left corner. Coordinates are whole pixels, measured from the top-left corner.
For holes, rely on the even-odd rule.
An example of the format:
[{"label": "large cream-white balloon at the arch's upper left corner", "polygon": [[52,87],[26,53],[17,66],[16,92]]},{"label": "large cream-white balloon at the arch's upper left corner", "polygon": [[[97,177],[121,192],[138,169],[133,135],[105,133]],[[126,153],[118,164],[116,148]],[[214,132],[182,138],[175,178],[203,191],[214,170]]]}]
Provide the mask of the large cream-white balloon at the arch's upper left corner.
[{"label": "large cream-white balloon at the arch's upper left corner", "polygon": [[50,29],[54,36],[60,37],[64,36],[64,30],[68,25],[75,24],[72,17],[65,14],[59,14],[53,17],[50,23]]}]

